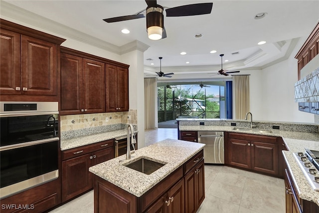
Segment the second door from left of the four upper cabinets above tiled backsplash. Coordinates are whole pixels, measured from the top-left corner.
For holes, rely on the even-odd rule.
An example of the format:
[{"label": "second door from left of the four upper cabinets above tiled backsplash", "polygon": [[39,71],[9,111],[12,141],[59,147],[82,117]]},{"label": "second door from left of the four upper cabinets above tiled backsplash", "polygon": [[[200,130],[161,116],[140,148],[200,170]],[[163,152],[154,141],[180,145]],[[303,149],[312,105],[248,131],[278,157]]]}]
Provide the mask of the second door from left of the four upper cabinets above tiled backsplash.
[{"label": "second door from left of the four upper cabinets above tiled backsplash", "polygon": [[105,64],[83,59],[84,111],[105,112]]}]

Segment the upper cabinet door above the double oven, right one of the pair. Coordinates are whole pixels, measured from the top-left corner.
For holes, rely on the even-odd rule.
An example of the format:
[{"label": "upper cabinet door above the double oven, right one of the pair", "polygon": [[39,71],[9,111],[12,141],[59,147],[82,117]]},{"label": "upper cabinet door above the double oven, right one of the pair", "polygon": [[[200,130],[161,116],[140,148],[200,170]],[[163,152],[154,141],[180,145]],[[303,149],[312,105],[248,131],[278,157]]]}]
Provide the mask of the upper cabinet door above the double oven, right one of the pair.
[{"label": "upper cabinet door above the double oven, right one of the pair", "polygon": [[57,95],[57,46],[21,35],[21,93]]}]

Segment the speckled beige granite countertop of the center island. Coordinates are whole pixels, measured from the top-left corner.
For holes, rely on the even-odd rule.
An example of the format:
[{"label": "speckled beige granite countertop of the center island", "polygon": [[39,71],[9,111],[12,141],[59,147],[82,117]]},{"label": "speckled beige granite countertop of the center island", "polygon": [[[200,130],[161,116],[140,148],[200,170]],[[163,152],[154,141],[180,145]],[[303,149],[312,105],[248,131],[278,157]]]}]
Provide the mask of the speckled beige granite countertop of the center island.
[{"label": "speckled beige granite countertop of the center island", "polygon": [[[126,160],[126,155],[122,155],[90,167],[89,171],[132,195],[141,197],[203,149],[204,146],[204,144],[200,143],[165,139],[153,145],[136,150],[136,152],[132,154],[131,160]],[[172,153],[174,154],[172,155]],[[124,166],[142,157],[165,165],[150,175]]]}]

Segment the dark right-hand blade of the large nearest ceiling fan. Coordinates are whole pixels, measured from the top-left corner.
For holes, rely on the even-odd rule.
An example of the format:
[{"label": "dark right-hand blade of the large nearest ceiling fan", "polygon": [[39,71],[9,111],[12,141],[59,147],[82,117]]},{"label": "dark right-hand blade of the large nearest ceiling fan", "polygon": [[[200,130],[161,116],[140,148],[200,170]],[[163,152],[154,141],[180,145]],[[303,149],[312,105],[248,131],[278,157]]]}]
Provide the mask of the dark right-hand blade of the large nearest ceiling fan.
[{"label": "dark right-hand blade of the large nearest ceiling fan", "polygon": [[209,14],[213,3],[194,3],[165,9],[166,16],[189,16]]}]

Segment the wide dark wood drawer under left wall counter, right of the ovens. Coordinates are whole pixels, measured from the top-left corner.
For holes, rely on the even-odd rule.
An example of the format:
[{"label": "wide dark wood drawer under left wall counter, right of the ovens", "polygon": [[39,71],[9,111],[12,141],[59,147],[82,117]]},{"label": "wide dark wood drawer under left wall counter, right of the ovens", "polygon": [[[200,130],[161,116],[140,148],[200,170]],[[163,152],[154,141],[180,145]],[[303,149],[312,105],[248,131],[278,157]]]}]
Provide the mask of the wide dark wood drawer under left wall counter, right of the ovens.
[{"label": "wide dark wood drawer under left wall counter, right of the ovens", "polygon": [[85,145],[62,152],[62,161],[114,146],[114,139]]}]

